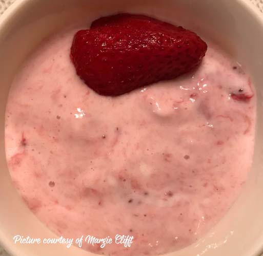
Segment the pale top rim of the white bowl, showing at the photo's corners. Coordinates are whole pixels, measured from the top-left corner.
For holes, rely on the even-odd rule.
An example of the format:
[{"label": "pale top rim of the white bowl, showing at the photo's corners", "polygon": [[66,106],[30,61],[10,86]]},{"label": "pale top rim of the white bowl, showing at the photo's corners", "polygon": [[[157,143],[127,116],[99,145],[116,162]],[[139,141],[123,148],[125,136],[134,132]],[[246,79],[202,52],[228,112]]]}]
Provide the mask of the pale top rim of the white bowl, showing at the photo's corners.
[{"label": "pale top rim of the white bowl, showing at the photo's corners", "polygon": [[[15,0],[14,3],[12,3],[0,16],[0,39],[1,39],[1,31],[5,28],[5,26],[11,22],[12,17],[18,12],[19,10],[22,10],[26,5],[28,5],[30,2],[33,2],[34,0]],[[42,0],[43,1],[43,0]],[[250,0],[232,0],[235,1],[238,5],[240,5],[242,8],[244,8],[248,13],[254,17],[256,22],[262,27],[262,33],[263,33],[263,12],[260,12],[259,8],[257,8],[252,1]],[[0,227],[1,228],[1,227]],[[263,237],[259,238],[259,240],[262,240],[261,243],[258,243],[258,241],[255,241],[254,249],[251,252],[251,256],[260,256],[263,253]],[[258,245],[257,245],[258,243]],[[12,242],[5,239],[4,236],[2,236],[2,233],[0,232],[0,246],[4,248],[10,255],[16,256],[17,250],[16,247],[11,246]],[[263,256],[263,254],[261,255]]]}]

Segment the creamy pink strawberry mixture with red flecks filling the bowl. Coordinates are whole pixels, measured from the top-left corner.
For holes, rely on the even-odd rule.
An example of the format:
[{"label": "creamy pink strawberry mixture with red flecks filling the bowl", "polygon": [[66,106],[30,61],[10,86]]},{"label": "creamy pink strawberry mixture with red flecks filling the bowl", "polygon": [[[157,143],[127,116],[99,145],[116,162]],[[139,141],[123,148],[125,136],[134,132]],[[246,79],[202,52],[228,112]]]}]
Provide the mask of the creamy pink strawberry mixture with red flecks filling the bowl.
[{"label": "creamy pink strawberry mixture with red flecks filling the bowl", "polygon": [[246,181],[255,97],[231,95],[254,95],[249,77],[208,44],[201,66],[185,76],[100,96],[70,62],[75,31],[46,40],[12,84],[6,153],[16,188],[64,237],[134,236],[130,248],[84,244],[95,253],[155,255],[190,245]]}]

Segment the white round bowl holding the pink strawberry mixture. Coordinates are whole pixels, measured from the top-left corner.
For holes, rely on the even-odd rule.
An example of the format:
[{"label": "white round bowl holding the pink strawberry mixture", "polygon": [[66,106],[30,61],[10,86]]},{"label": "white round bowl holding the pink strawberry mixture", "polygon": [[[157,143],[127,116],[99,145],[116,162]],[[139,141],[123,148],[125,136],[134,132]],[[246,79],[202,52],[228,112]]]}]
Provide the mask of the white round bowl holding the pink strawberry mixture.
[{"label": "white round bowl holding the pink strawberry mixture", "polygon": [[[241,196],[204,239],[171,256],[256,256],[263,249],[263,19],[248,0],[17,0],[0,19],[0,240],[16,256],[92,255],[65,245],[14,244],[20,234],[55,235],[25,206],[14,189],[5,158],[4,115],[8,90],[22,61],[45,37],[77,19],[88,23],[115,12],[143,12],[209,35],[244,63],[257,90],[254,164]],[[242,157],[242,156],[240,156]]]}]

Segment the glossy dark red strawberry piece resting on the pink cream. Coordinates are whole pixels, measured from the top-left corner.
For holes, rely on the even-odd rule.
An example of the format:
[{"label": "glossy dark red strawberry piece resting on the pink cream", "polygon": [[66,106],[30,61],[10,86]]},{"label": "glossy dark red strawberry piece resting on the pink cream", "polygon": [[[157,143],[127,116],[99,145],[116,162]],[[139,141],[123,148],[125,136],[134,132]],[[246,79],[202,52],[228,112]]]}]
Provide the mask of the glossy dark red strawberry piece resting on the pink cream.
[{"label": "glossy dark red strawberry piece resting on the pink cream", "polygon": [[78,31],[71,60],[91,89],[117,96],[189,72],[206,51],[206,43],[189,30],[125,13],[99,18]]}]

